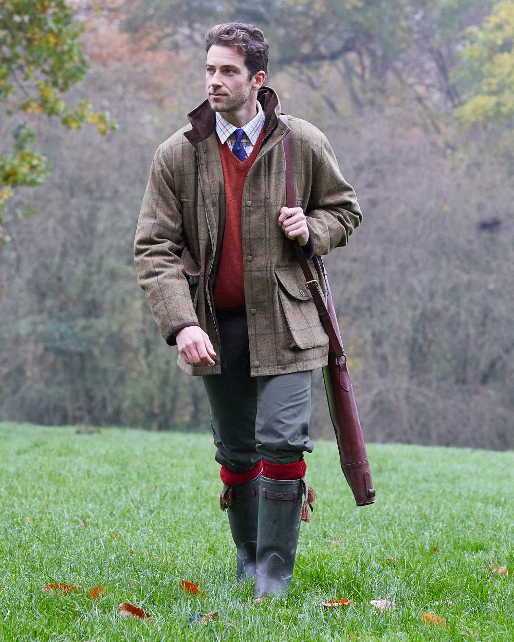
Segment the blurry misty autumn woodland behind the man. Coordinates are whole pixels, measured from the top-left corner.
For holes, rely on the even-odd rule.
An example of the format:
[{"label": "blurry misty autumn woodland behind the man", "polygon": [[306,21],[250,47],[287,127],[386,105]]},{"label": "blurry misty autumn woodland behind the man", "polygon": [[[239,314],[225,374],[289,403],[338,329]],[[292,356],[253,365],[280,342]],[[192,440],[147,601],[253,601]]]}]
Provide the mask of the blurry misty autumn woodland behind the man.
[{"label": "blurry misty autumn woodland behind the man", "polygon": [[[55,5],[0,3],[0,85],[21,42],[10,98],[31,82],[34,13]],[[104,110],[85,120],[106,135],[0,97],[0,419],[210,429],[132,247],[155,149],[205,98],[204,33],[235,20],[263,29],[265,84],[326,133],[364,214],[325,265],[366,439],[514,447],[514,2],[67,5],[87,71],[59,91]],[[48,176],[15,184],[6,159],[27,126]],[[313,392],[312,437],[330,438],[321,370]]]}]

